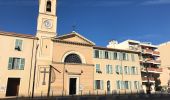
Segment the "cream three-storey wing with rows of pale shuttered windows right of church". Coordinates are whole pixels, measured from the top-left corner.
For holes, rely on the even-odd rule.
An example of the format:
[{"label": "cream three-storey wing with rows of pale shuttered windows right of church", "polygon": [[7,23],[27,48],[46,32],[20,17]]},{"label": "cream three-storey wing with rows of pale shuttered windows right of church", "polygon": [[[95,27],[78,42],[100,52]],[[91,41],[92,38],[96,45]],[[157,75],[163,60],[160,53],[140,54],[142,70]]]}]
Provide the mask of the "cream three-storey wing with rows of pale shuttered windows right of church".
[{"label": "cream three-storey wing with rows of pale shuttered windows right of church", "polygon": [[96,46],[93,48],[95,93],[142,92],[139,52]]}]

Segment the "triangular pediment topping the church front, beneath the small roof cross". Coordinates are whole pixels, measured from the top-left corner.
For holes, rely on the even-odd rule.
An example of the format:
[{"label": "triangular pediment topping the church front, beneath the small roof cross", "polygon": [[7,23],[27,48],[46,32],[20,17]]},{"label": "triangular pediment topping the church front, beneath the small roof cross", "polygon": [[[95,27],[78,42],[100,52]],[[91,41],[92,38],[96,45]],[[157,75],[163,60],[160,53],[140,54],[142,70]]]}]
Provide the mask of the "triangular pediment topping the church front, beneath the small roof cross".
[{"label": "triangular pediment topping the church front, beneath the small roof cross", "polygon": [[70,34],[58,36],[56,39],[67,41],[67,42],[76,42],[88,45],[95,45],[92,41],[88,40],[87,38],[83,37],[82,35],[72,32]]}]

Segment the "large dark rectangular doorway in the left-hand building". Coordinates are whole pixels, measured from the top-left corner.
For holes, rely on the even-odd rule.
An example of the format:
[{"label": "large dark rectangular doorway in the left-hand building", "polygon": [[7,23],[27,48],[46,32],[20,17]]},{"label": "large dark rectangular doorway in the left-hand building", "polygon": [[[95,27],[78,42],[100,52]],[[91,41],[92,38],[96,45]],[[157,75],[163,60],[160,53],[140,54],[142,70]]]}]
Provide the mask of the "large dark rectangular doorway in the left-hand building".
[{"label": "large dark rectangular doorway in the left-hand building", "polygon": [[8,78],[6,96],[18,96],[20,78]]}]

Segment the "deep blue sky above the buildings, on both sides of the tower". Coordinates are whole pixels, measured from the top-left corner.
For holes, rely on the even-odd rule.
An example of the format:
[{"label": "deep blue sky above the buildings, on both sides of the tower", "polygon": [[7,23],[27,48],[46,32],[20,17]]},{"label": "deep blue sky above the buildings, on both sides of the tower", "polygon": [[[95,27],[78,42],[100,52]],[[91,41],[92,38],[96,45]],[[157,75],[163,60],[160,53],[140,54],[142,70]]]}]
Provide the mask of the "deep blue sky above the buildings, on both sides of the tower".
[{"label": "deep blue sky above the buildings, on both sides of the tower", "polygon": [[[38,0],[0,0],[0,30],[36,33]],[[106,46],[109,40],[170,40],[170,0],[58,0],[58,34],[76,32]]]}]

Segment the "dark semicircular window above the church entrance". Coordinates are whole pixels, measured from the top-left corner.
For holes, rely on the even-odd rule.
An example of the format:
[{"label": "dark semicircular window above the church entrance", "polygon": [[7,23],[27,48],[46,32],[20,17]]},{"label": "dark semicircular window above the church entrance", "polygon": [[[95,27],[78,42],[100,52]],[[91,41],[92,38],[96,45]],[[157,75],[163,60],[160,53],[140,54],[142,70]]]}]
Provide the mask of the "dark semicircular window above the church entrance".
[{"label": "dark semicircular window above the church entrance", "polygon": [[77,54],[69,54],[66,56],[65,63],[82,63],[80,56]]}]

